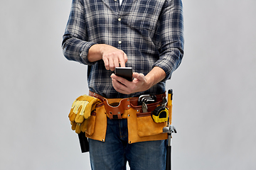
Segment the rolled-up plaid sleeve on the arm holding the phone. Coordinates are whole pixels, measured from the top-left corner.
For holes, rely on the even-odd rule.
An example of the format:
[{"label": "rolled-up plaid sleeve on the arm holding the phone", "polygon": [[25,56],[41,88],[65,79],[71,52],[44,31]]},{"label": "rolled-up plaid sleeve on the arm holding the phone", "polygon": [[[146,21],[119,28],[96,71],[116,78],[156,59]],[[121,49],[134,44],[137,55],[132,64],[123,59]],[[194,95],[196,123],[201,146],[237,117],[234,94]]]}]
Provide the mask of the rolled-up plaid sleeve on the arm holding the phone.
[{"label": "rolled-up plaid sleeve on the arm holding the phone", "polygon": [[181,64],[183,58],[183,6],[181,0],[167,0],[161,17],[160,57],[153,67],[160,67],[166,72],[166,78]]}]

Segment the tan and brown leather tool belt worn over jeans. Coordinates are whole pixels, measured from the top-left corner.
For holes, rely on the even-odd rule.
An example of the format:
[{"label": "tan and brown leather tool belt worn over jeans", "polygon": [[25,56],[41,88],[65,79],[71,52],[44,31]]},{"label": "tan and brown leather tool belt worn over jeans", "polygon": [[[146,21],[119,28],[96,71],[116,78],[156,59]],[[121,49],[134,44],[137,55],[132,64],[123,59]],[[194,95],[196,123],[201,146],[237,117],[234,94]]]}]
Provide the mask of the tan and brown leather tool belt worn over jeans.
[{"label": "tan and brown leather tool belt worn over jeans", "polygon": [[167,133],[163,133],[167,121],[155,123],[151,118],[151,112],[161,105],[166,94],[156,95],[156,102],[147,104],[146,112],[142,106],[138,106],[138,97],[133,98],[104,98],[98,94],[89,92],[89,96],[100,99],[101,103],[95,106],[87,120],[86,137],[92,140],[105,142],[107,131],[107,117],[110,119],[127,118],[128,142],[144,142],[151,140],[166,140]]}]

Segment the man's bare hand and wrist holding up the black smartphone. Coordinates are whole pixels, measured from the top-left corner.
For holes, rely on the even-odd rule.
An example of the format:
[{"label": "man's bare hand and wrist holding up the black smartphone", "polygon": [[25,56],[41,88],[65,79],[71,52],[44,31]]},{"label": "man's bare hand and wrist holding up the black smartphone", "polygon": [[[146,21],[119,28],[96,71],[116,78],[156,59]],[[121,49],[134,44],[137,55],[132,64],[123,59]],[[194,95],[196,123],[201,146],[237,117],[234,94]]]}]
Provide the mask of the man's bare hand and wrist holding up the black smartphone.
[{"label": "man's bare hand and wrist holding up the black smartphone", "polygon": [[134,79],[128,81],[122,77],[117,77],[115,74],[111,75],[112,85],[116,91],[122,94],[133,94],[139,91],[146,91],[157,84],[166,77],[166,73],[160,67],[154,67],[149,74],[139,74],[134,72],[132,74]]}]

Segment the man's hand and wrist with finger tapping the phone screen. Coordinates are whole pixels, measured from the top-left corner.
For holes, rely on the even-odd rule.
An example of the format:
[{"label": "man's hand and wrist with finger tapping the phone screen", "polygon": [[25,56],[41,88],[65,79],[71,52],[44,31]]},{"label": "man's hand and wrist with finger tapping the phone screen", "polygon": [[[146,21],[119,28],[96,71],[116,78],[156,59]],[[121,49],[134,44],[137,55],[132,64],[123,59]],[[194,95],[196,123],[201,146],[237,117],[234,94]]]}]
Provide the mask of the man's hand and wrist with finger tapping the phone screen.
[{"label": "man's hand and wrist with finger tapping the phone screen", "polygon": [[95,62],[101,59],[105,64],[105,68],[111,71],[114,71],[115,67],[125,67],[125,63],[128,60],[124,51],[116,47],[105,44],[92,45],[88,52],[89,62]]}]

